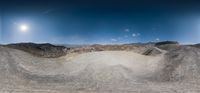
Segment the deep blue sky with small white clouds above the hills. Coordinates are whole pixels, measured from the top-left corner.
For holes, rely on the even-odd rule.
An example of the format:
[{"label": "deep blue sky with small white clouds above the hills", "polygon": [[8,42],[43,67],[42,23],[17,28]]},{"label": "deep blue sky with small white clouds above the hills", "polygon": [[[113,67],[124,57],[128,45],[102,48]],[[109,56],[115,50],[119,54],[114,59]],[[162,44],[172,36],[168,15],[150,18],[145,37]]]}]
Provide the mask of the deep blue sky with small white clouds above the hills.
[{"label": "deep blue sky with small white clouds above the hills", "polygon": [[[200,41],[200,2],[195,0],[0,2],[1,43]],[[29,29],[22,32],[21,25]]]}]

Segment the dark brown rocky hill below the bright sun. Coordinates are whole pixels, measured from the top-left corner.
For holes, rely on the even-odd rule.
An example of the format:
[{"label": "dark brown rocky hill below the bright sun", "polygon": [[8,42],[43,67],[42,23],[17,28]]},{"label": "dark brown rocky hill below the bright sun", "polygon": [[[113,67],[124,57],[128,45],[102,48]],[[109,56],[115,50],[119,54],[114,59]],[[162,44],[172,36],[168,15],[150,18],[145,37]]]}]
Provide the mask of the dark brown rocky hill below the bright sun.
[{"label": "dark brown rocky hill below the bright sun", "polygon": [[31,53],[39,57],[61,57],[67,54],[67,51],[70,48],[64,46],[55,46],[49,43],[44,44],[35,44],[35,43],[17,43],[17,44],[8,44],[5,47],[14,48],[23,50],[25,52]]}]

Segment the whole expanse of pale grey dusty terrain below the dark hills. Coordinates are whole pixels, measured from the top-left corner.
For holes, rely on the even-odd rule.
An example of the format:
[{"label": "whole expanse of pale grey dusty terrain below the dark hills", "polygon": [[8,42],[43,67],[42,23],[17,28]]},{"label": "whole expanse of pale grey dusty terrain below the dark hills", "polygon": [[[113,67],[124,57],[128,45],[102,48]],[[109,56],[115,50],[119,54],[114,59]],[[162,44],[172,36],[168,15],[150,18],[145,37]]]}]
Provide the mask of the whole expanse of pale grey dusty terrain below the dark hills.
[{"label": "whole expanse of pale grey dusty terrain below the dark hills", "polygon": [[199,93],[200,50],[161,46],[89,46],[52,58],[1,46],[0,93]]}]

